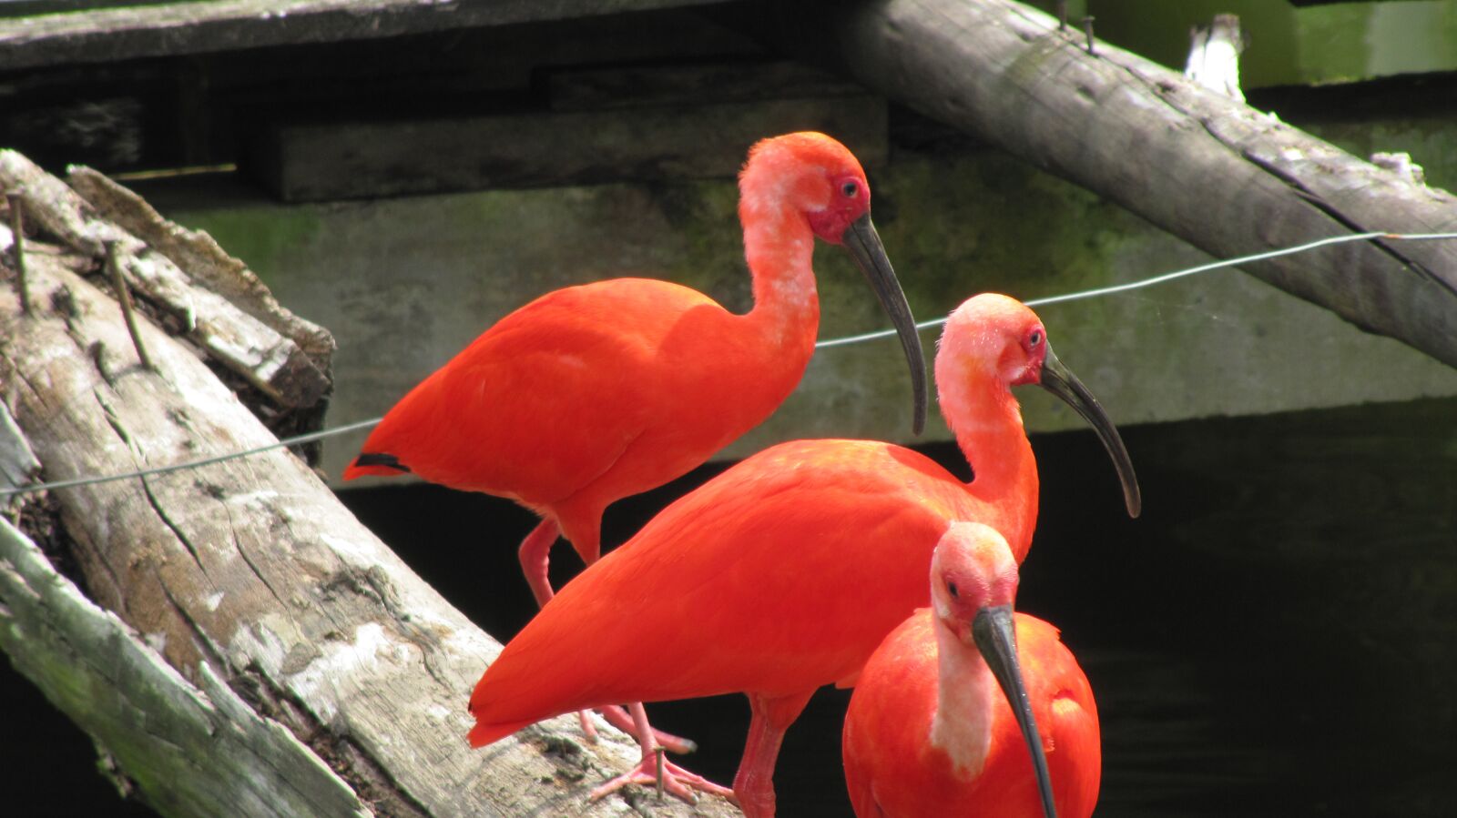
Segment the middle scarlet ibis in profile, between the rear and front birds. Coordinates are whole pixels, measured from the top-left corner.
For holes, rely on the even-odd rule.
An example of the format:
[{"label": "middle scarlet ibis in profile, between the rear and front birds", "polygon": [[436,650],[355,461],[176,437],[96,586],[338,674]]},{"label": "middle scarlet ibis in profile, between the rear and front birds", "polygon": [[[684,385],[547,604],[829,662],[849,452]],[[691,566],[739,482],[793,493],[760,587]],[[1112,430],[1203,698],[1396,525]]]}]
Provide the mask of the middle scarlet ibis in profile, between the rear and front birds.
[{"label": "middle scarlet ibis in profile, between the rear and front birds", "polygon": [[743,691],[752,720],[733,790],[752,818],[772,815],[784,731],[822,684],[852,686],[886,633],[925,605],[946,527],[985,523],[1018,562],[1027,553],[1037,466],[1013,384],[1043,386],[1093,425],[1138,514],[1118,431],[1030,309],[997,294],[957,307],[935,377],[970,483],[887,442],[790,441],[743,460],[577,575],[511,639],[471,696],[471,744],[581,707]]}]

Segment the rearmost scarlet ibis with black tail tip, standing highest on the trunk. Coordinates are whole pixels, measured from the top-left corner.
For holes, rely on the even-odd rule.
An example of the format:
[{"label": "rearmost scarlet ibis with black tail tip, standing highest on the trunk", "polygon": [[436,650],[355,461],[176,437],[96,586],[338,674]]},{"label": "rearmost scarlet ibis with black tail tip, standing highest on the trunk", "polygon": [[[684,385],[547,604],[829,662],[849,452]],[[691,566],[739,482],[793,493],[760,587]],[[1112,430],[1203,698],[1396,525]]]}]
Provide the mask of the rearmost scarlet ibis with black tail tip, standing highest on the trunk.
[{"label": "rearmost scarlet ibis with black tail tip, standing highest on the trunk", "polygon": [[542,517],[520,560],[551,598],[558,533],[590,565],[603,509],[688,473],[784,402],[819,327],[814,236],[844,245],[890,313],[925,422],[915,320],[870,221],[860,162],[830,137],[763,140],[739,178],[755,306],[643,278],[548,293],[503,317],[390,409],[344,479],[414,473]]}]

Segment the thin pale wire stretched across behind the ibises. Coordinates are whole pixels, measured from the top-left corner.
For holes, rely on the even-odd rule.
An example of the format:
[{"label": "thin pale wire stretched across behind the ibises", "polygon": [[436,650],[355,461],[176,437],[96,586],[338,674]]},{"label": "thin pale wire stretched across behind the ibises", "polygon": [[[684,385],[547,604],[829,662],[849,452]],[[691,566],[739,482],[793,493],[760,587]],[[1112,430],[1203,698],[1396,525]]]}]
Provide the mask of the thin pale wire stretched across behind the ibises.
[{"label": "thin pale wire stretched across behind the ibises", "polygon": [[[1224,259],[1224,261],[1209,262],[1209,263],[1193,266],[1193,268],[1189,268],[1189,269],[1180,269],[1180,271],[1174,271],[1174,272],[1166,272],[1163,275],[1155,275],[1152,278],[1144,278],[1144,279],[1139,279],[1139,281],[1129,281],[1129,282],[1125,282],[1125,284],[1113,284],[1110,287],[1099,287],[1099,288],[1094,288],[1094,290],[1083,290],[1083,291],[1078,291],[1078,293],[1068,293],[1068,294],[1064,294],[1064,295],[1048,295],[1045,298],[1033,298],[1033,300],[1023,301],[1023,303],[1027,304],[1029,307],[1045,307],[1048,304],[1062,304],[1062,303],[1067,303],[1067,301],[1081,301],[1084,298],[1097,298],[1097,297],[1101,297],[1101,295],[1113,295],[1113,294],[1118,294],[1118,293],[1128,293],[1131,290],[1141,290],[1144,287],[1154,287],[1157,284],[1164,284],[1164,282],[1174,281],[1177,278],[1185,278],[1185,277],[1189,277],[1189,275],[1198,275],[1201,272],[1209,272],[1209,271],[1215,271],[1215,269],[1224,269],[1227,266],[1238,266],[1238,265],[1243,265],[1243,263],[1259,262],[1259,261],[1273,259],[1273,258],[1279,258],[1279,256],[1289,256],[1289,255],[1295,255],[1295,253],[1304,253],[1307,250],[1314,250],[1314,249],[1324,247],[1324,246],[1329,246],[1329,245],[1343,245],[1346,242],[1367,242],[1367,240],[1371,240],[1371,239],[1390,239],[1390,240],[1400,240],[1400,242],[1425,242],[1425,240],[1437,240],[1437,239],[1457,239],[1457,233],[1384,233],[1384,231],[1375,231],[1375,233],[1352,233],[1352,234],[1346,234],[1346,236],[1332,236],[1332,237],[1327,237],[1327,239],[1319,239],[1316,242],[1308,242],[1308,243],[1304,243],[1304,245],[1297,245],[1294,247],[1282,247],[1282,249],[1278,249],[1278,250],[1268,250],[1268,252],[1254,253],[1254,255],[1250,255],[1250,256],[1240,256],[1240,258],[1236,258],[1236,259]],[[918,323],[915,326],[919,330],[919,329],[931,329],[934,326],[941,326],[944,323],[946,323],[946,319],[931,319],[931,320],[927,320],[927,322],[921,322],[921,323]],[[890,338],[895,333],[896,333],[896,330],[893,330],[893,329],[883,329],[883,330],[877,330],[877,332],[865,332],[865,333],[861,333],[861,335],[849,335],[849,336],[845,336],[845,338],[830,338],[828,341],[820,341],[814,346],[817,349],[825,349],[825,348],[829,348],[829,346],[845,346],[845,345],[849,345],[849,344],[860,344],[863,341],[873,341],[873,339],[877,339],[877,338]],[[127,480],[130,477],[150,477],[153,474],[168,474],[170,472],[182,472],[185,469],[198,469],[198,467],[203,467],[203,466],[211,466],[214,463],[223,463],[226,460],[236,460],[236,458],[240,458],[240,457],[248,457],[248,456],[259,454],[259,453],[264,453],[264,451],[271,451],[274,448],[286,448],[286,447],[290,447],[290,445],[299,445],[299,444],[303,444],[303,442],[313,442],[316,440],[325,440],[325,438],[331,438],[331,437],[337,437],[337,435],[354,432],[354,431],[358,431],[358,429],[367,429],[367,428],[372,428],[372,426],[377,425],[382,419],[383,418],[372,418],[369,421],[358,421],[357,424],[348,424],[348,425],[344,425],[344,426],[334,426],[334,428],[328,428],[328,429],[319,429],[316,432],[309,432],[309,434],[296,435],[296,437],[291,437],[291,438],[284,438],[284,440],[280,440],[278,442],[271,442],[271,444],[254,447],[254,448],[248,448],[248,450],[243,450],[243,451],[233,451],[233,453],[229,453],[229,454],[219,454],[219,456],[214,456],[214,457],[204,457],[201,460],[189,460],[186,463],[176,463],[176,464],[172,464],[172,466],[157,466],[156,469],[141,469],[138,472],[127,472],[124,474],[106,474],[106,476],[101,476],[101,477],[76,477],[76,479],[71,479],[71,480],[57,480],[57,482],[52,482],[52,483],[32,483],[29,486],[0,488],[0,498],[13,496],[13,495],[22,495],[22,493],[44,492],[44,491],[50,491],[50,489],[71,489],[71,488],[77,488],[77,486],[92,486],[92,485],[96,485],[96,483],[111,483],[111,482],[115,482],[115,480]]]}]

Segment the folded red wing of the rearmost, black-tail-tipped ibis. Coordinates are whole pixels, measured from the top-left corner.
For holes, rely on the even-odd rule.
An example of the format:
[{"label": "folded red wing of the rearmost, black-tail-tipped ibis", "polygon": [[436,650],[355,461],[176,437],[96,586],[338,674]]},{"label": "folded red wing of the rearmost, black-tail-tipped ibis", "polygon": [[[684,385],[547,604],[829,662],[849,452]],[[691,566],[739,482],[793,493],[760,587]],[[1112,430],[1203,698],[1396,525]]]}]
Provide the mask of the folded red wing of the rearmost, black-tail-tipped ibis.
[{"label": "folded red wing of the rearmost, black-tail-tipped ibis", "polygon": [[[643,432],[657,344],[712,304],[660,281],[549,293],[506,316],[407,394],[364,444],[421,477],[552,502],[590,483]],[[373,473],[354,467],[345,476]]]}]

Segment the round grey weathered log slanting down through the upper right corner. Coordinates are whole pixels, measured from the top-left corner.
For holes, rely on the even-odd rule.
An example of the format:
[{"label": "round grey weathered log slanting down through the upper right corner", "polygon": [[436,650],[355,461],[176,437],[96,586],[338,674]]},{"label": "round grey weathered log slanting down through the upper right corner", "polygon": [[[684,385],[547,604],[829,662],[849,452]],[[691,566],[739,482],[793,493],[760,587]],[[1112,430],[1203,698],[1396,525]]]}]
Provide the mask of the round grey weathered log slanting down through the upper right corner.
[{"label": "round grey weathered log slanting down through the upper right corner", "polygon": [[[1457,230],[1450,194],[1128,51],[1100,42],[1088,54],[1081,32],[1059,32],[1021,3],[865,0],[753,12],[731,20],[1215,256],[1349,233]],[[1354,242],[1244,269],[1457,365],[1457,242]]]}]

